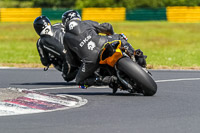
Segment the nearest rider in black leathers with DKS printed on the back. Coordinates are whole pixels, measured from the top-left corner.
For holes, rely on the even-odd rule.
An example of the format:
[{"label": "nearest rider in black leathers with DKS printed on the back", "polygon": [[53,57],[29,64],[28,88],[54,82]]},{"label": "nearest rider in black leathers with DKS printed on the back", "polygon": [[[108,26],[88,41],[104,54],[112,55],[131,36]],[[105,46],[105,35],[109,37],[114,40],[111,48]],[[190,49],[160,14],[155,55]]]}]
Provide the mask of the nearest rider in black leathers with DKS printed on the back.
[{"label": "nearest rider in black leathers with DKS printed on the back", "polygon": [[[76,56],[81,60],[82,65],[76,75],[76,83],[78,85],[97,85],[115,84],[117,78],[114,76],[106,76],[103,79],[94,76],[94,71],[98,68],[99,53],[106,42],[113,40],[121,40],[122,46],[127,47],[128,51],[134,55],[134,49],[127,42],[126,37],[120,34],[114,34],[111,24],[94,21],[81,21],[81,17],[77,11],[69,10],[63,13],[62,23],[65,26],[64,45],[69,47]],[[101,36],[99,33],[106,34]]]}]

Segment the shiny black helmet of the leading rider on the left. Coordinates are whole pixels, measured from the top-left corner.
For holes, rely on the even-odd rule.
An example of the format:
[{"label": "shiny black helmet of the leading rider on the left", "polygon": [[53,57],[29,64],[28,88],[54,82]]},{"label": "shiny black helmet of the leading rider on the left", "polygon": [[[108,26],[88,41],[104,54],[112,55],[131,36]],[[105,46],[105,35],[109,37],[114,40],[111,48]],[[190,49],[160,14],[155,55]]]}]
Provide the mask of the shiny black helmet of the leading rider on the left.
[{"label": "shiny black helmet of the leading rider on the left", "polygon": [[[38,35],[47,34],[51,29],[51,22],[46,16],[39,16],[33,22],[33,26]],[[43,30],[46,30],[43,33]]]}]

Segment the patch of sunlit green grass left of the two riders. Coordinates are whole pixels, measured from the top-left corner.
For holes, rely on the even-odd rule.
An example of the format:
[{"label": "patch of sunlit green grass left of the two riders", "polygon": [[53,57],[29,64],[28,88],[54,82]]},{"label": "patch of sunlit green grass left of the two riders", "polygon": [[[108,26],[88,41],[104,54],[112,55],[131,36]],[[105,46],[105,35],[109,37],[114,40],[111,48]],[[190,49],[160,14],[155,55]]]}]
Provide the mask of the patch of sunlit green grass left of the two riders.
[{"label": "patch of sunlit green grass left of the two riders", "polygon": [[39,63],[32,23],[0,23],[0,63]]}]

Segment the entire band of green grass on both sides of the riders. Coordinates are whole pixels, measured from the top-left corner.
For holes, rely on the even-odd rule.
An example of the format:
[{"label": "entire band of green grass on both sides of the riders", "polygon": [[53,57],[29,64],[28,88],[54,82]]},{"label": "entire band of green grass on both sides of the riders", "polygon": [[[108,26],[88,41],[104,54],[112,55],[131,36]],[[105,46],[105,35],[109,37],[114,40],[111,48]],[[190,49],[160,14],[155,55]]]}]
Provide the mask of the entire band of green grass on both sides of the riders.
[{"label": "entire band of green grass on both sides of the riders", "polygon": [[[53,21],[52,23],[59,22]],[[199,67],[200,23],[111,22],[135,49],[148,56],[154,68]],[[0,63],[40,63],[36,49],[39,36],[32,23],[0,23]]]}]

